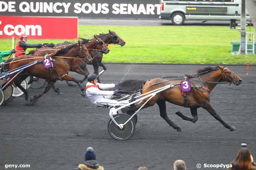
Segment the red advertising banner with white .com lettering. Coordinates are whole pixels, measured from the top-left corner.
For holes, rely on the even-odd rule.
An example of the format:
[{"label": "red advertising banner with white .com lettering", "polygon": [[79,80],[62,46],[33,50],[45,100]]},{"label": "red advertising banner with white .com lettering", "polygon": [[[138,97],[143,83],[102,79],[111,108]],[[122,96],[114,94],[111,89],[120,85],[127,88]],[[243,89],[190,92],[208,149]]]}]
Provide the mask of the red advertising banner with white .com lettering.
[{"label": "red advertising banner with white .com lettering", "polygon": [[25,33],[33,39],[78,38],[77,17],[0,16],[0,38]]}]

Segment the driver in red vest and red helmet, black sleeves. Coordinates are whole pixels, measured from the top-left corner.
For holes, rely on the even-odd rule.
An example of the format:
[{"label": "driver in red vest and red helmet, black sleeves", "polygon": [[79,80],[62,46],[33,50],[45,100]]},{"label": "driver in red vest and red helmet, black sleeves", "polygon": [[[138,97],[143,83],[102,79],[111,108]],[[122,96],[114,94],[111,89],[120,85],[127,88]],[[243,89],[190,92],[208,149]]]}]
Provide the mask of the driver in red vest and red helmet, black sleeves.
[{"label": "driver in red vest and red helmet, black sleeves", "polygon": [[26,44],[28,36],[26,34],[21,34],[20,35],[20,40],[17,42],[16,45],[16,53],[15,57],[25,55],[26,49],[27,48],[41,48],[42,44]]}]

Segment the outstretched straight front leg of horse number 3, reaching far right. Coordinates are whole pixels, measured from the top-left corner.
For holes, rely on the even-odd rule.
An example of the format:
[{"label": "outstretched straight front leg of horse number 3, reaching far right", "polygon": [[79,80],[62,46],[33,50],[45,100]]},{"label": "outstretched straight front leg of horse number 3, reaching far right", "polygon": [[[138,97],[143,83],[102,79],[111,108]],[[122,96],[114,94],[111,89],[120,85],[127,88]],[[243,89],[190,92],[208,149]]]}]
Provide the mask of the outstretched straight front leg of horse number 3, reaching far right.
[{"label": "outstretched straight front leg of horse number 3, reaching far right", "polygon": [[226,122],[224,122],[221,117],[215,112],[215,110],[211,107],[211,104],[209,101],[204,101],[202,102],[202,108],[204,108],[205,110],[207,110],[215,119],[217,119],[219,122],[221,122],[221,124],[223,124],[223,126],[227,129],[229,129],[230,131],[234,131],[236,130],[236,128],[234,126],[230,126],[228,125]]}]

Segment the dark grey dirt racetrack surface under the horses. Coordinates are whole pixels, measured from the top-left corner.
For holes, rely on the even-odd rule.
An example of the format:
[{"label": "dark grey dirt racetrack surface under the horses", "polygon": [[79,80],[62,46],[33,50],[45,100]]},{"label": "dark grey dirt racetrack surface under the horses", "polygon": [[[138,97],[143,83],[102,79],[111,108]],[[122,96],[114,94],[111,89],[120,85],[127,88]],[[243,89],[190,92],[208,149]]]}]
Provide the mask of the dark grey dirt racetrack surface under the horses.
[{"label": "dark grey dirt racetrack surface under the horses", "polygon": [[[131,66],[125,79],[183,75],[203,67],[107,64],[102,82],[119,82]],[[236,126],[234,132],[224,128],[202,108],[198,110],[195,124],[183,121],[174,113],[181,111],[190,116],[189,109],[168,103],[170,119],[183,132],[171,128],[155,105],[139,113],[131,139],[115,141],[107,130],[109,111],[94,106],[85,110],[90,103],[80,96],[78,87],[57,82],[56,86],[64,95],[50,90],[34,106],[25,106],[23,97],[0,106],[0,170],[5,164],[30,164],[28,170],[73,170],[83,162],[88,146],[96,150],[105,170],[136,170],[139,166],[171,170],[176,159],[186,161],[188,170],[198,170],[197,163],[230,163],[240,143],[247,143],[256,158],[256,67],[250,67],[249,76],[246,76],[246,66],[228,68],[237,73],[243,83],[240,86],[217,85],[211,92],[211,104],[224,121]],[[89,69],[92,72],[91,66]],[[39,90],[29,90],[30,96],[36,93]]]}]

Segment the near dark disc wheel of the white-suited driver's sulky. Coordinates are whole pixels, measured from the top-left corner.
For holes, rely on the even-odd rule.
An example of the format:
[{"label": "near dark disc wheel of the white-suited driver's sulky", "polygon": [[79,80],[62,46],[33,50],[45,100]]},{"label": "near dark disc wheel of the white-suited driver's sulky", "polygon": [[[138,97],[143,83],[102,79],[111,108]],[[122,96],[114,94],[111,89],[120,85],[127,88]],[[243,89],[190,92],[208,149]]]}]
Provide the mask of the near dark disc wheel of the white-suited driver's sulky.
[{"label": "near dark disc wheel of the white-suited driver's sulky", "polygon": [[[124,113],[119,113],[114,116],[115,121],[118,124],[125,123],[130,118],[129,115]],[[135,132],[135,123],[134,120],[131,119],[129,122],[127,122],[123,128],[120,128],[117,126],[112,119],[108,122],[108,133],[111,137],[118,141],[124,141],[132,137]]]}]

